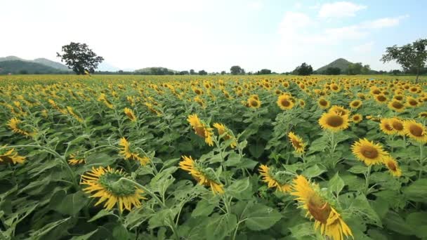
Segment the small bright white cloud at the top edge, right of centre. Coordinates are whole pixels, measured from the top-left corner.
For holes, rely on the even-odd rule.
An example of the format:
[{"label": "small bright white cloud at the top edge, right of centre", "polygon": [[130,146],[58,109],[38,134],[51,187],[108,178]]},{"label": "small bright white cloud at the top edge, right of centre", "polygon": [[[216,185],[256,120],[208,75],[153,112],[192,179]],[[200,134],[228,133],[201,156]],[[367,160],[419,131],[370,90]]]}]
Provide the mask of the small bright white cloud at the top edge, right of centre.
[{"label": "small bright white cloud at the top edge, right of centre", "polygon": [[320,7],[320,18],[344,18],[353,17],[357,11],[360,11],[367,6],[353,4],[349,1],[337,1],[331,4],[323,4]]}]

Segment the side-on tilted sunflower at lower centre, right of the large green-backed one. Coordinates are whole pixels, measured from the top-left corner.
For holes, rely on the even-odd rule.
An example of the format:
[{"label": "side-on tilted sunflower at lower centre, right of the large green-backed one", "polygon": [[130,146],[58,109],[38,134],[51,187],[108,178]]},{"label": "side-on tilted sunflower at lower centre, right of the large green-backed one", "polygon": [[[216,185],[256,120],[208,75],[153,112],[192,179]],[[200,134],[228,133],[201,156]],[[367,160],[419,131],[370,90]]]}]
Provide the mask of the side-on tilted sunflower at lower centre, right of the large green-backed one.
[{"label": "side-on tilted sunflower at lower centre, right of the large green-backed one", "polygon": [[215,173],[211,171],[212,169],[203,168],[191,156],[183,156],[183,160],[179,162],[179,167],[188,171],[199,182],[199,185],[211,187],[213,194],[224,193],[223,185],[217,180]]}]

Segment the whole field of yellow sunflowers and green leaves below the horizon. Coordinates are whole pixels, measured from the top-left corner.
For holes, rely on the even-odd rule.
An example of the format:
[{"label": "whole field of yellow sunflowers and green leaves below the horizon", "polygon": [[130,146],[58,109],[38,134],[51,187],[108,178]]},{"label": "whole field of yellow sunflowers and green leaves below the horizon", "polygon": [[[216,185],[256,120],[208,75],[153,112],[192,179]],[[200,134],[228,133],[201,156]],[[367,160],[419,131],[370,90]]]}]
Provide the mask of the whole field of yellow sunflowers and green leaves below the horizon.
[{"label": "whole field of yellow sunflowers and green leaves below the horizon", "polygon": [[0,239],[427,239],[427,84],[0,76]]}]

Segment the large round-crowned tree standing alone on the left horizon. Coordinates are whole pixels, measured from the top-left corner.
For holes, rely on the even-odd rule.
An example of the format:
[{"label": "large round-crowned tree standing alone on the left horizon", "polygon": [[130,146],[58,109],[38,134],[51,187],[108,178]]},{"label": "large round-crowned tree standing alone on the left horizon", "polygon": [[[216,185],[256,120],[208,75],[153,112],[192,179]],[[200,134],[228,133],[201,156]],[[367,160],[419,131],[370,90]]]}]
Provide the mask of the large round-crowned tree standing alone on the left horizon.
[{"label": "large round-crowned tree standing alone on the left horizon", "polygon": [[93,73],[98,64],[104,60],[103,57],[96,55],[92,49],[88,48],[87,44],[71,42],[63,46],[62,50],[62,54],[56,53],[56,55],[76,74],[85,74],[86,71]]}]

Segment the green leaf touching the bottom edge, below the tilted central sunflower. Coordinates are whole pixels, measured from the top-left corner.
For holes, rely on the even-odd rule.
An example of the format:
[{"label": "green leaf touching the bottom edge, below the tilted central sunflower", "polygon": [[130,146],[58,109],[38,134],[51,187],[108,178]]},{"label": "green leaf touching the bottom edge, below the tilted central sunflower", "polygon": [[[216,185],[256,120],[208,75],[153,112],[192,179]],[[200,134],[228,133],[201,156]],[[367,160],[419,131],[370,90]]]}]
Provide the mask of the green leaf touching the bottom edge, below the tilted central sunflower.
[{"label": "green leaf touching the bottom edge, below the tilted central sunflower", "polygon": [[234,214],[215,215],[209,218],[206,225],[206,239],[224,239],[237,225]]}]

